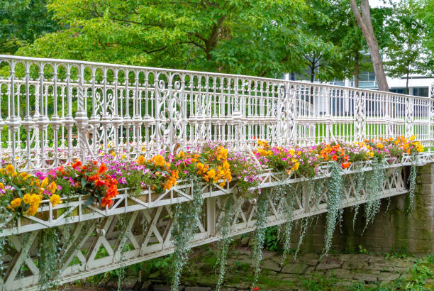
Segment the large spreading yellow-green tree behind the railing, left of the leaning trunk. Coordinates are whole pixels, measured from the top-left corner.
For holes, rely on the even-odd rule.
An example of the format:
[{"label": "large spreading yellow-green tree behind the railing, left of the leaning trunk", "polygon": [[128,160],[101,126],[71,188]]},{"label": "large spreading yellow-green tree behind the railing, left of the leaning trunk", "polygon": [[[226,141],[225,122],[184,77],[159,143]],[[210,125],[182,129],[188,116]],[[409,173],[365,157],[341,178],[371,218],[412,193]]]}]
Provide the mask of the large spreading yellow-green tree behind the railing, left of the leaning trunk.
[{"label": "large spreading yellow-green tree behind the railing, left of the leaning trunk", "polygon": [[275,77],[300,72],[304,0],[53,0],[68,28],[23,55]]}]

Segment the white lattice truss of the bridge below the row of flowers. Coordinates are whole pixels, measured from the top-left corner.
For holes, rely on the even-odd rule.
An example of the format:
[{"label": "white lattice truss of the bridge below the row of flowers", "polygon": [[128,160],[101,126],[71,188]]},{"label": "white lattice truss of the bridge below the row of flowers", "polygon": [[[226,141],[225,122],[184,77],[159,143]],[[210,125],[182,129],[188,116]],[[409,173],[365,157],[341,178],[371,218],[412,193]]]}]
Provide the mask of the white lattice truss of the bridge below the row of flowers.
[{"label": "white lattice truss of the bridge below the row of flowers", "polygon": [[[422,155],[418,165],[433,163],[432,155]],[[405,157],[401,163],[391,163],[384,166],[385,181],[378,198],[392,197],[408,193],[406,166],[414,165],[410,157]],[[317,179],[327,179],[330,176],[327,165],[324,165],[322,175]],[[351,207],[363,204],[369,200],[367,192],[356,191],[355,175],[360,171],[372,170],[369,162],[362,168],[345,169],[345,190],[343,190],[340,207]],[[279,185],[291,185],[286,197],[295,197],[294,212],[288,216],[284,207],[286,199],[276,201],[268,195],[267,226],[283,224],[289,219],[301,219],[327,212],[327,187],[321,192],[312,194],[308,190],[311,182],[301,178],[288,179],[284,173],[267,172],[261,176],[261,188]],[[101,210],[95,207],[84,207],[84,200],[71,198],[61,209],[51,209],[44,202],[41,212],[33,217],[21,217],[17,221],[11,219],[0,234],[5,239],[4,251],[4,290],[37,289],[39,280],[38,250],[43,229],[58,226],[59,241],[65,243],[63,255],[57,262],[56,270],[61,270],[58,283],[72,282],[91,275],[104,273],[126,265],[140,263],[144,260],[165,256],[174,251],[171,238],[174,204],[190,201],[192,185],[178,185],[155,196],[148,192],[130,197],[128,190],[116,197],[111,209]],[[221,188],[218,185],[203,185],[204,206],[199,219],[199,227],[191,246],[201,246],[221,239],[220,224],[223,205],[226,199],[233,197],[233,224],[228,236],[235,236],[254,231],[256,228],[257,207],[255,201],[239,197],[235,189],[228,185]],[[126,229],[121,230],[121,217],[126,219]],[[120,236],[120,232],[125,233]],[[68,242],[68,243],[66,243]],[[123,246],[128,246],[125,249]]]}]

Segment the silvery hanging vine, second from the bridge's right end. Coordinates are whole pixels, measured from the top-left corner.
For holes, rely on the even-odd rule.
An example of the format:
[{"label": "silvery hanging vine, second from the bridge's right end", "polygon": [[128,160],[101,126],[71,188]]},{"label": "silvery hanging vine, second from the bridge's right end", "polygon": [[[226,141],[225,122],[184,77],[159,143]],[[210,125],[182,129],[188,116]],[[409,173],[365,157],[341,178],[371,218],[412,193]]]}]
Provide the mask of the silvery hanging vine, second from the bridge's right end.
[{"label": "silvery hanging vine, second from the bridge's right end", "polygon": [[365,205],[366,223],[363,232],[367,225],[374,221],[375,215],[379,212],[381,206],[381,192],[384,184],[384,166],[382,160],[374,158],[372,161],[372,171],[366,174],[366,192],[367,203]]}]

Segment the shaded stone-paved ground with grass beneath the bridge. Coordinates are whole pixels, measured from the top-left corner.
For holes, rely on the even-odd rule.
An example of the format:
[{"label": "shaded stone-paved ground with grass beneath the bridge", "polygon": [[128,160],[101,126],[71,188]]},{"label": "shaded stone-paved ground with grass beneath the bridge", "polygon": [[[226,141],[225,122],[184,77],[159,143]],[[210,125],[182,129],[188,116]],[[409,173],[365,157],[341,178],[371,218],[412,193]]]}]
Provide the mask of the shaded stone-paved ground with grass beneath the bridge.
[{"label": "shaded stone-paved ground with grass beneath the bridge", "polygon": [[[215,245],[195,248],[184,268],[180,290],[214,290],[218,278],[216,255]],[[259,290],[434,290],[432,255],[415,258],[396,254],[373,256],[366,252],[335,254],[321,261],[319,257],[308,253],[294,260],[291,256],[281,266],[279,253],[265,251],[262,274],[255,286]],[[169,260],[158,258],[127,268],[122,289],[169,290]],[[250,248],[233,246],[228,254],[223,290],[250,290],[254,279],[250,265]],[[116,271],[70,287],[64,290],[117,290]]]}]

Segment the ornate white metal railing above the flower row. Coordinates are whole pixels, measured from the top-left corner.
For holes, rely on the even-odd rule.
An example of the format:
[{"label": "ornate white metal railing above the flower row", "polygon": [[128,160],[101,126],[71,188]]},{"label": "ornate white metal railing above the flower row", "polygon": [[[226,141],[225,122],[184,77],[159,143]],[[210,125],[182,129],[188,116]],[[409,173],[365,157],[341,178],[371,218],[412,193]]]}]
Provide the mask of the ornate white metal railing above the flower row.
[{"label": "ornate white metal railing above the flower row", "polygon": [[240,75],[0,55],[1,154],[25,170],[115,151],[136,158],[254,138],[308,146],[418,135],[433,99]]}]

